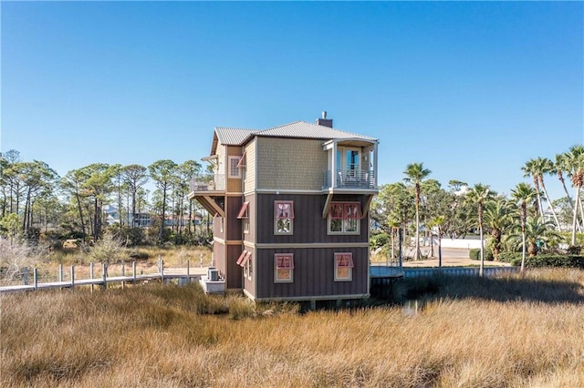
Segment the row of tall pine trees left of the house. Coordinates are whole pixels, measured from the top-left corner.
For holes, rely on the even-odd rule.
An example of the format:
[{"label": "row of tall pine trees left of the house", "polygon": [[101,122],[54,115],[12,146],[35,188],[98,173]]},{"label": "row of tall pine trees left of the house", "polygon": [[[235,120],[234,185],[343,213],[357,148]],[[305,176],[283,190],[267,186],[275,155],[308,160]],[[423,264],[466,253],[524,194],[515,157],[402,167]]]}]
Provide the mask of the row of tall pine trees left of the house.
[{"label": "row of tall pine trees left of the house", "polygon": [[[0,232],[34,240],[53,230],[61,238],[99,240],[109,224],[105,207],[111,205],[118,217],[109,228],[129,242],[141,243],[144,233],[157,243],[208,240],[202,236],[210,233],[208,225],[196,230],[203,209],[187,199],[189,181],[201,168],[193,160],[163,159],[150,166],[92,163],[60,177],[47,163],[23,160],[11,149],[0,154]],[[149,181],[152,192],[146,189]],[[138,228],[144,213],[154,225],[145,231]]]}]

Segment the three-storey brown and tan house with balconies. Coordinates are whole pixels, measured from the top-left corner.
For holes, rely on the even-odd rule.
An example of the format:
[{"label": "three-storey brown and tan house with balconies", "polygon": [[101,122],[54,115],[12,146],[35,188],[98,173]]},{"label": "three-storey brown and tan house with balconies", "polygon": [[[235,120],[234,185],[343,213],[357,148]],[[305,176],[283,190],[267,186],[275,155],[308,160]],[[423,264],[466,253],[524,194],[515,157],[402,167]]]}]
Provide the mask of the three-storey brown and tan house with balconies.
[{"label": "three-storey brown and tan house with balconies", "polygon": [[214,265],[227,291],[255,301],[370,296],[369,208],[378,139],[297,121],[214,128],[214,173],[189,198],[214,214]]}]

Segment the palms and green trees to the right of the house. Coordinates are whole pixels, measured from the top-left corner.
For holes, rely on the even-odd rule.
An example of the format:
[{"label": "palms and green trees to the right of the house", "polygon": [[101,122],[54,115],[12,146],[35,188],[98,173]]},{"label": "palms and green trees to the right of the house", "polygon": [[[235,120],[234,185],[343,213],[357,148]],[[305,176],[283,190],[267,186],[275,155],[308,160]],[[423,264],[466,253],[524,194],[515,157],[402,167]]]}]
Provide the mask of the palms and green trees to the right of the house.
[{"label": "palms and green trees to the right of the house", "polygon": [[[584,228],[581,192],[584,148],[573,146],[554,160],[532,158],[521,169],[533,184],[518,183],[510,196],[504,196],[488,185],[470,186],[454,179],[443,189],[440,182],[429,179],[432,171],[424,168],[423,163],[409,164],[403,171],[403,182],[382,185],[379,196],[372,202],[371,217],[381,230],[373,235],[372,245],[388,250],[387,254],[395,258],[396,241],[412,240],[413,259],[418,260],[421,233],[427,240],[440,241],[444,236],[461,238],[471,231],[483,240],[486,232],[495,260],[507,246],[509,250],[522,251],[522,262],[526,254],[537,255],[538,251],[557,248],[562,242],[571,247],[578,242],[581,245],[577,236]],[[544,179],[549,175],[558,179],[566,197],[549,198]],[[544,209],[544,201],[549,213]],[[440,249],[440,243],[438,246]],[[440,256],[439,251],[439,259]],[[480,256],[482,262],[483,247]]]}]

